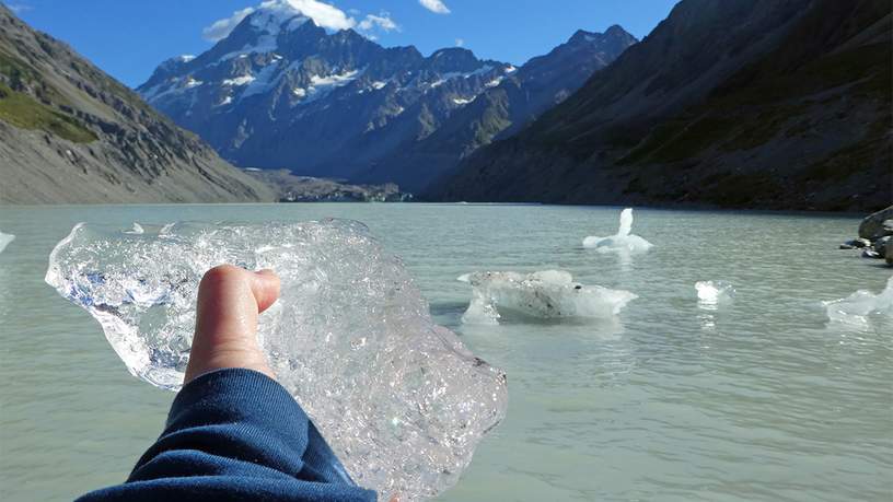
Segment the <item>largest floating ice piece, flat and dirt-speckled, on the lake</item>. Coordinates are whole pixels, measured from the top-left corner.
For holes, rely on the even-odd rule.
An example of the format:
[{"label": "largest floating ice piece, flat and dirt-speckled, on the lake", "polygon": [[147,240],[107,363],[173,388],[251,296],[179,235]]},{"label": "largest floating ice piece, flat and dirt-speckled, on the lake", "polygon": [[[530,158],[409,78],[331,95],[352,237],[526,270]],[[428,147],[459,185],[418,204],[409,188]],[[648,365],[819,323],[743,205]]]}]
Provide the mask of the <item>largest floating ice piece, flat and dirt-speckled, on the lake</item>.
[{"label": "largest floating ice piece, flat and dirt-speckled, on the lake", "polygon": [[560,270],[529,275],[474,272],[459,278],[472,285],[465,324],[499,324],[503,317],[612,318],[637,299],[628,291],[582,285]]}]

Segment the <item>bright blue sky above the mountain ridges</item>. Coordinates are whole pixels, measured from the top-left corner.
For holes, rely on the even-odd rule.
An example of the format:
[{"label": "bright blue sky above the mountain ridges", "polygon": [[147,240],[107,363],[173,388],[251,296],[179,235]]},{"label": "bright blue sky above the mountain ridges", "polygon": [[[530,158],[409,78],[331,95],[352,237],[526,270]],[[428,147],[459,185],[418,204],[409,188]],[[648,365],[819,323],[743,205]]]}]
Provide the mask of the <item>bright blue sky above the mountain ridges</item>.
[{"label": "bright blue sky above the mountain ridges", "polygon": [[[169,57],[207,50],[212,45],[208,38],[213,32],[202,35],[205,28],[262,2],[1,1],[32,26],[67,42],[130,86],[146,81],[158,63]],[[335,25],[366,27],[366,33],[384,46],[415,45],[428,55],[439,48],[463,45],[478,57],[514,65],[547,52],[580,28],[601,32],[619,24],[642,38],[676,3],[675,0],[291,1],[316,8],[325,1],[335,10],[322,5],[322,15],[333,19]]]}]

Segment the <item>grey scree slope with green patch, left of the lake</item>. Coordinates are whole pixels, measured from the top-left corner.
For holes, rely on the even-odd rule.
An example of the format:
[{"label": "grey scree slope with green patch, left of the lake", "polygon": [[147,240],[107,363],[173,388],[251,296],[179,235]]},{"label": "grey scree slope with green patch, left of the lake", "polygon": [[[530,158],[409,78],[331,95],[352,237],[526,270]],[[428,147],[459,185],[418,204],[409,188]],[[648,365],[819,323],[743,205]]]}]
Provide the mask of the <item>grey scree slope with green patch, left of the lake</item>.
[{"label": "grey scree slope with green patch, left of the lake", "polygon": [[0,203],[272,200],[140,97],[0,4]]}]

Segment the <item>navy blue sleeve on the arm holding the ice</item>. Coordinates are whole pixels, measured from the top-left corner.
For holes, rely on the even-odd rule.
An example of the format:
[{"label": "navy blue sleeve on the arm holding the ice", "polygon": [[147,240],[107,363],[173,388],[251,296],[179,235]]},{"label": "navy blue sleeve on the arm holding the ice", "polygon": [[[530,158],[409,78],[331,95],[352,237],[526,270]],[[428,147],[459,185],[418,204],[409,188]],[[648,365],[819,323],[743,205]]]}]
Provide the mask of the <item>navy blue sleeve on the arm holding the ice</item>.
[{"label": "navy blue sleeve on the arm holding the ice", "polygon": [[375,501],[282,386],[221,370],[183,387],[164,432],[124,485],[79,502]]}]

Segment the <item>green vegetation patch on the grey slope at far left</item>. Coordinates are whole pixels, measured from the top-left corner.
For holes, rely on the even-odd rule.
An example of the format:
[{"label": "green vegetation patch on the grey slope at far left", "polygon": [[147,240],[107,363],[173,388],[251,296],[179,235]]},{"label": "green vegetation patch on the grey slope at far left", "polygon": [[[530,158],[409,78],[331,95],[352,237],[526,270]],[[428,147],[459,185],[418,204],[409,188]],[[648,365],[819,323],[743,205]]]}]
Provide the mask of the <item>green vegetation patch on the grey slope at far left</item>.
[{"label": "green vegetation patch on the grey slope at far left", "polygon": [[0,119],[22,129],[44,130],[76,143],[89,143],[98,139],[74,117],[55,110],[2,83]]}]

